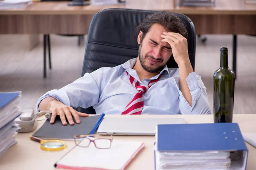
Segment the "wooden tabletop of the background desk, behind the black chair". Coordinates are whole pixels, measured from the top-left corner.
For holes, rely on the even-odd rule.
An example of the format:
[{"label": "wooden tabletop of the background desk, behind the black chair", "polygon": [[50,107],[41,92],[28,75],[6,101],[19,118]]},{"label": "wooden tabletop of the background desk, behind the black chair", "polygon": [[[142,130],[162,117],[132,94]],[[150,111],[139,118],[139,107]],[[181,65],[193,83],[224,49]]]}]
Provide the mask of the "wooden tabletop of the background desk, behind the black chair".
[{"label": "wooden tabletop of the background desk, behind the black chair", "polygon": [[[67,6],[69,2],[33,2],[23,9],[0,9],[0,15],[24,14],[96,14],[106,8],[135,8],[148,10],[168,10],[182,14],[256,14],[256,4],[245,4],[244,0],[216,0],[215,7],[180,7],[174,6],[174,0],[126,0],[125,5],[104,6]],[[177,2],[178,4],[178,2]]]}]

